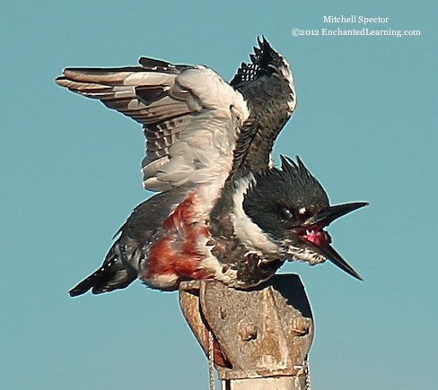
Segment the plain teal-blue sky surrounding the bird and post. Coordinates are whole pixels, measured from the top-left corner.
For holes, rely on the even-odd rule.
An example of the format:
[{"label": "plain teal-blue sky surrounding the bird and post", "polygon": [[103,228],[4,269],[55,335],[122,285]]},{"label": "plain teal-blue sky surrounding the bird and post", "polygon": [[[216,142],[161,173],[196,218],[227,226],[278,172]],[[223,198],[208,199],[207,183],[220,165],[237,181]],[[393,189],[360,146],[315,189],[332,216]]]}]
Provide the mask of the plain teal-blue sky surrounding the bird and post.
[{"label": "plain teal-blue sky surrounding the bird and post", "polygon": [[[149,194],[140,126],[56,86],[66,66],[139,56],[227,80],[264,34],[293,68],[298,106],[275,158],[299,154],[333,204],[371,206],[330,227],[364,277],[286,264],[311,300],[314,390],[434,388],[438,379],[438,69],[432,1],[15,1],[0,4],[0,380],[4,389],[206,389],[176,293],[70,299]],[[327,15],[386,24],[323,23]],[[420,30],[293,37],[291,30]]]}]

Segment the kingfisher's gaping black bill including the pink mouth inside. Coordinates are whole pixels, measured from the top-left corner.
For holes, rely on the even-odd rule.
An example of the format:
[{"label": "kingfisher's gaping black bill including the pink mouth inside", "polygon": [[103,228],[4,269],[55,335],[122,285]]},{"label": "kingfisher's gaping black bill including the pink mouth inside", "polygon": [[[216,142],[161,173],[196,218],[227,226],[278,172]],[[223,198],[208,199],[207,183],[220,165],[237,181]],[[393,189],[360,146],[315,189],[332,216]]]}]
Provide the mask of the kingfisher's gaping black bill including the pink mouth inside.
[{"label": "kingfisher's gaping black bill including the pink mouth inside", "polygon": [[328,226],[332,221],[337,220],[337,218],[366,205],[367,203],[365,202],[357,202],[354,204],[329,206],[305,221],[302,228],[293,229],[293,232],[301,236],[302,239],[305,239],[311,247],[314,247],[322,256],[337,265],[341,270],[344,270],[346,273],[362,281],[361,276],[330,246],[331,239],[329,233],[322,229]]}]

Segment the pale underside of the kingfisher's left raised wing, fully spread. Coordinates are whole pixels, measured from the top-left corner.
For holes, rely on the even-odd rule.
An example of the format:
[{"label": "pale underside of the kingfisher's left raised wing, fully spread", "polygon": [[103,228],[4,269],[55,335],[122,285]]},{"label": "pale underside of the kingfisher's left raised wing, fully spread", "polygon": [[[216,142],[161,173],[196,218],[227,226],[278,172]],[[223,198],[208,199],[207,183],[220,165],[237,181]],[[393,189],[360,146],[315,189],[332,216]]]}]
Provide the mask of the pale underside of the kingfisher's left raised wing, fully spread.
[{"label": "pale underside of the kingfisher's left raised wing, fully spread", "polygon": [[222,186],[232,169],[241,124],[249,116],[241,93],[202,65],[151,58],[140,58],[140,65],[66,68],[56,82],[143,125],[146,189]]}]

